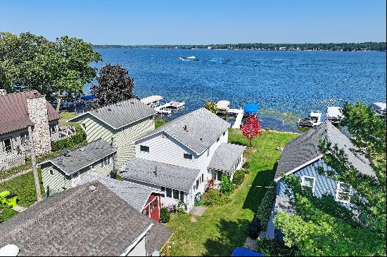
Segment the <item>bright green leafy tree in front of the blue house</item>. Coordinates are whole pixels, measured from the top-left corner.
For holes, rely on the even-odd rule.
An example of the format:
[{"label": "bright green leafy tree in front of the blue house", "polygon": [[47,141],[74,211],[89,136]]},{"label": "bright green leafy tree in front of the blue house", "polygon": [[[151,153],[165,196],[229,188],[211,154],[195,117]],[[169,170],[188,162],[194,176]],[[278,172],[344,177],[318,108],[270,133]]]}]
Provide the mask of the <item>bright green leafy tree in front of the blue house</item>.
[{"label": "bright green leafy tree in front of the blue house", "polygon": [[274,225],[284,233],[286,245],[298,246],[305,256],[386,256],[386,119],[361,103],[345,104],[343,114],[341,125],[348,126],[353,143],[369,158],[376,177],[357,171],[343,150],[323,141],[319,147],[332,169],[317,171],[351,185],[351,210],[334,196],[313,196],[292,175],[283,180],[295,212],[277,214]]}]

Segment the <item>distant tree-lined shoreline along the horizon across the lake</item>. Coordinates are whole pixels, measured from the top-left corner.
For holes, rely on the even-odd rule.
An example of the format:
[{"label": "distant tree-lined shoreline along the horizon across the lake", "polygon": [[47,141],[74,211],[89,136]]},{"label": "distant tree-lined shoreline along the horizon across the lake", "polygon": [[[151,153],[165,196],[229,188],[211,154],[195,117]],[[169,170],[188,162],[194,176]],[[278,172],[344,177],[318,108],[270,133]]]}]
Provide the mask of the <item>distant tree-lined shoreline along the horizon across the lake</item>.
[{"label": "distant tree-lined shoreline along the horizon across the lake", "polygon": [[386,42],[328,43],[328,44],[208,44],[208,45],[93,45],[94,48],[126,49],[209,49],[209,50],[250,50],[250,51],[358,51],[386,52]]}]

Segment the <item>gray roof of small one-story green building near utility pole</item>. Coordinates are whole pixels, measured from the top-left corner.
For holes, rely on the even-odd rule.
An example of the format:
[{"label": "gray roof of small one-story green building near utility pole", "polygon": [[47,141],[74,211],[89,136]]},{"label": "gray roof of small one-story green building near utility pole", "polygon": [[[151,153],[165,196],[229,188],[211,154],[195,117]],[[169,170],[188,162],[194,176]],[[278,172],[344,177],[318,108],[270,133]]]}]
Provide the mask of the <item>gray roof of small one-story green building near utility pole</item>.
[{"label": "gray roof of small one-story green building near utility pole", "polygon": [[114,152],[116,152],[114,147],[111,147],[104,140],[99,139],[68,152],[66,156],[60,155],[53,159],[49,159],[49,161],[43,162],[40,165],[45,165],[46,163],[51,162],[67,175],[71,175],[72,173],[75,173],[90,164],[94,164],[94,162],[98,162],[103,159],[103,157],[113,154]]}]

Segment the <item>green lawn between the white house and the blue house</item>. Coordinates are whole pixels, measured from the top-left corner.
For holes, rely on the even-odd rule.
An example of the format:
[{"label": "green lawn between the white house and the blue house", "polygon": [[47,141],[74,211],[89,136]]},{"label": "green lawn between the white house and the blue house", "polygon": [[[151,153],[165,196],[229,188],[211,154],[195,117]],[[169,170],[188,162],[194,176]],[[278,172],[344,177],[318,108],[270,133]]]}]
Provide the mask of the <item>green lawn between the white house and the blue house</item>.
[{"label": "green lawn between the white house and the blue house", "polygon": [[[174,230],[170,240],[172,256],[230,256],[237,246],[243,246],[248,235],[248,225],[262,197],[264,187],[274,178],[274,164],[280,157],[277,147],[284,145],[296,133],[265,132],[253,140],[244,156],[250,163],[250,173],[231,195],[232,202],[223,206],[207,207],[203,216],[195,216],[197,222],[191,223],[191,214],[175,214],[167,226]],[[229,130],[229,143],[249,145],[241,131]],[[250,186],[251,185],[251,186]]]}]

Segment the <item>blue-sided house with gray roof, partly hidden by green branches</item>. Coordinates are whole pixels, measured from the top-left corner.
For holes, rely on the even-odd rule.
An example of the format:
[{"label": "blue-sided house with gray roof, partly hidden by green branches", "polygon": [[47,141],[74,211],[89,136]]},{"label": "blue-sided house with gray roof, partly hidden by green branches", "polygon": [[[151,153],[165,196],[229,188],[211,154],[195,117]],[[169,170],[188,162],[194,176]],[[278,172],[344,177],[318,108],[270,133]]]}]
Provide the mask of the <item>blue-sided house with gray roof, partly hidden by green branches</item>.
[{"label": "blue-sided house with gray roof, partly hidden by green branches", "polygon": [[329,121],[303,133],[284,147],[279,159],[274,176],[274,180],[277,182],[277,198],[274,203],[273,214],[267,226],[268,238],[273,238],[274,234],[280,235],[279,231],[274,231],[272,223],[275,213],[279,211],[293,212],[285,192],[286,185],[281,180],[283,175],[294,174],[303,187],[310,187],[316,197],[332,195],[337,202],[341,202],[344,206],[350,208],[350,199],[353,194],[351,186],[341,181],[332,180],[328,176],[320,175],[317,171],[317,167],[324,169],[324,171],[333,169],[324,162],[323,154],[319,151],[319,143],[322,140],[327,140],[332,145],[338,145],[339,149],[343,149],[345,154],[348,155],[348,162],[357,171],[367,176],[375,176],[368,159],[362,154],[354,153],[352,150],[356,150],[357,147]]}]

